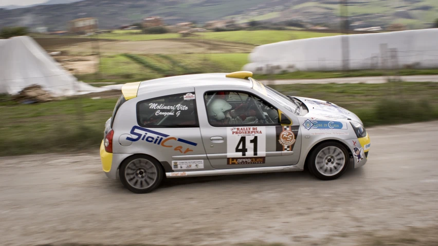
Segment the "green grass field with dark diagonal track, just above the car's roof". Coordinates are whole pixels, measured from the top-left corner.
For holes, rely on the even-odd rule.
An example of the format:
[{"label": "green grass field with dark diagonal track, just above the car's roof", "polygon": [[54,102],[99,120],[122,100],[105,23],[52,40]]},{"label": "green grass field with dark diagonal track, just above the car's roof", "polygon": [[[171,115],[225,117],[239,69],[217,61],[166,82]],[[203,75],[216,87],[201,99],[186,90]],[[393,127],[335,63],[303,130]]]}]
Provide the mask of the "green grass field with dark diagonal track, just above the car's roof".
[{"label": "green grass field with dark diagonal track, just above the car's roof", "polygon": [[77,77],[89,83],[126,83],[170,75],[233,72],[242,69],[247,63],[247,56],[247,53],[107,55],[101,58],[99,74]]}]

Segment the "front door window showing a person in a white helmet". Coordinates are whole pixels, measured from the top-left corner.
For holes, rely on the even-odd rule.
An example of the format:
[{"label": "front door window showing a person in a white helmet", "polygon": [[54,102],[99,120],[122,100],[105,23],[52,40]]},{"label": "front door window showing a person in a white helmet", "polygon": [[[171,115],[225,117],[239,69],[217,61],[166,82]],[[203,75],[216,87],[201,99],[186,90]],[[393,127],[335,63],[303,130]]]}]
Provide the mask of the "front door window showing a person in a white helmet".
[{"label": "front door window showing a person in a white helmet", "polygon": [[280,125],[278,110],[247,92],[209,91],[204,101],[212,126]]}]

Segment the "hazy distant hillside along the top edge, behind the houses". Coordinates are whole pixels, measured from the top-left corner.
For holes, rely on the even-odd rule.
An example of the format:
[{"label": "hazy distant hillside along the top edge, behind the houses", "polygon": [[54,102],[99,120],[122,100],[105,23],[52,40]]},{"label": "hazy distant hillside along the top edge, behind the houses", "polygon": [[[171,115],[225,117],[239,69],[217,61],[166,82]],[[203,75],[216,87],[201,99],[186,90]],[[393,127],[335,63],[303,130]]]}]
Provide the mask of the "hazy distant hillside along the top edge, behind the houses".
[{"label": "hazy distant hillside along the top edge, behind the houses", "polygon": [[[351,0],[348,3],[352,28],[388,27],[394,23],[408,28],[428,28],[438,18],[436,0]],[[20,23],[64,30],[70,20],[93,16],[99,19],[101,29],[112,29],[153,15],[163,17],[168,25],[194,22],[202,26],[207,21],[234,18],[237,23],[294,21],[338,28],[340,11],[339,1],[333,0],[84,0],[68,5],[0,9],[0,27]]]}]

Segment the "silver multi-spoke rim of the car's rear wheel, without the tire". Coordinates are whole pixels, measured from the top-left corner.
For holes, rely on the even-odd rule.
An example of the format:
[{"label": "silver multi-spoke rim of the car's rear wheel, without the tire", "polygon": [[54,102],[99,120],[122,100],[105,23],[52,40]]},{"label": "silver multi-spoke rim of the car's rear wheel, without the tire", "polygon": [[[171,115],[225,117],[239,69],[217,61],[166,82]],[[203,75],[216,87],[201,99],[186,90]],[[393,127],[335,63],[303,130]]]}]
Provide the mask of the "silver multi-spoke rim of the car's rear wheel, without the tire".
[{"label": "silver multi-spoke rim of the car's rear wheel, without the tire", "polygon": [[135,159],[125,168],[126,181],[134,188],[145,189],[157,179],[157,168],[146,159]]}]

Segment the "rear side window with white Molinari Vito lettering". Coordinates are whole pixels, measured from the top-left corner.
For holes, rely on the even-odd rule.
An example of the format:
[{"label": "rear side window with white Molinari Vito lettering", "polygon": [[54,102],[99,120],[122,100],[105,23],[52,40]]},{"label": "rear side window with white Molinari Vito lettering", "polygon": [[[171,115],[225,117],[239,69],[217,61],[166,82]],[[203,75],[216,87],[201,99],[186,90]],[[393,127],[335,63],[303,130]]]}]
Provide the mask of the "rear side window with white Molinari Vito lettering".
[{"label": "rear side window with white Molinari Vito lettering", "polygon": [[174,94],[138,102],[138,125],[143,127],[199,127],[194,93]]}]

